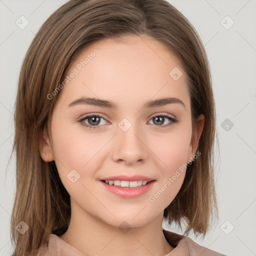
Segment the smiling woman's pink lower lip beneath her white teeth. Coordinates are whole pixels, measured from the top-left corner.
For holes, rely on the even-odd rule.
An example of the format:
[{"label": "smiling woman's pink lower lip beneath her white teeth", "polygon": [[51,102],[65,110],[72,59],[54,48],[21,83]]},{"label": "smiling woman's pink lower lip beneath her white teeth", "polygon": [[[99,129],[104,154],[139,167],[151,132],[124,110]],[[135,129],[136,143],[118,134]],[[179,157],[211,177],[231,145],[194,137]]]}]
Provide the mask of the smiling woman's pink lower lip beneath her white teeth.
[{"label": "smiling woman's pink lower lip beneath her white teeth", "polygon": [[155,180],[150,181],[146,185],[137,186],[137,187],[121,187],[121,186],[109,185],[102,180],[100,180],[100,182],[108,191],[120,197],[132,198],[132,197],[137,197],[141,194],[146,193],[152,187]]}]

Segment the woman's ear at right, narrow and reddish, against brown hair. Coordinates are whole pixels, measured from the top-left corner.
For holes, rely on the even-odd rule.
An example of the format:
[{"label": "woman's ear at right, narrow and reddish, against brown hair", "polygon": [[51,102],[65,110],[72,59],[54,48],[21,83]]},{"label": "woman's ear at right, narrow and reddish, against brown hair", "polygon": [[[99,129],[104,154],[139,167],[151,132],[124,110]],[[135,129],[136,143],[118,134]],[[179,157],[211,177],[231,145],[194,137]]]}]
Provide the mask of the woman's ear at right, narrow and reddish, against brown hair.
[{"label": "woman's ear at right, narrow and reddish, against brown hair", "polygon": [[[196,119],[196,130],[192,133],[191,141],[187,154],[187,162],[191,162],[193,160],[193,156],[196,153],[196,149],[199,143],[199,138],[202,134],[203,126],[204,126],[204,115],[200,114]],[[188,161],[189,160],[189,161]]]}]

